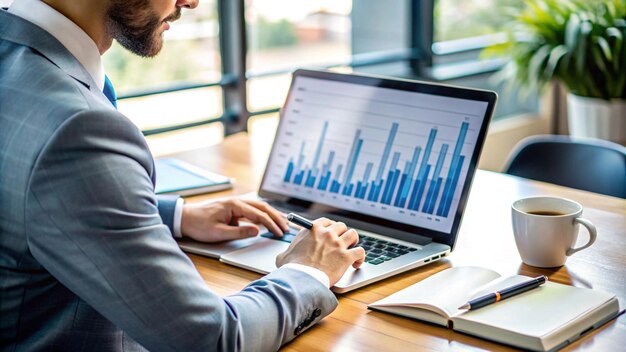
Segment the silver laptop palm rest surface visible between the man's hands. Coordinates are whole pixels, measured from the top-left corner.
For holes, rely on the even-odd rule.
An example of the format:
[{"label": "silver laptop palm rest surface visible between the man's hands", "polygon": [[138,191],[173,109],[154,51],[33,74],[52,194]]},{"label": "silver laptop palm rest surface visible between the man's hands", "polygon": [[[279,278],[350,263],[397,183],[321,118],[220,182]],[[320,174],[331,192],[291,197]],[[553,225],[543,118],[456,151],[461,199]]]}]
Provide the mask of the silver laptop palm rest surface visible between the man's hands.
[{"label": "silver laptop palm rest surface visible between the man's hands", "polygon": [[259,238],[259,242],[222,255],[220,261],[244,269],[268,274],[276,270],[276,256],[289,247],[289,243]]}]

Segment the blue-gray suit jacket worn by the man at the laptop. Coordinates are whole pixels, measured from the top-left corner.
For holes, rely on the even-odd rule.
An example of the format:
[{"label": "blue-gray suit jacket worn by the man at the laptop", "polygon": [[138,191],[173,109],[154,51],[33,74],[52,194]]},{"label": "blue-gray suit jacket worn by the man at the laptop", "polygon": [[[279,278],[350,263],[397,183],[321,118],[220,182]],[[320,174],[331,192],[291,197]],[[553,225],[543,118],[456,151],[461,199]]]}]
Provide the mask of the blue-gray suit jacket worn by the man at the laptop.
[{"label": "blue-gray suit jacket worn by the man at the laptop", "polygon": [[0,10],[0,349],[275,350],[336,307],[290,269],[213,293],[153,174],[141,132],[75,58]]}]

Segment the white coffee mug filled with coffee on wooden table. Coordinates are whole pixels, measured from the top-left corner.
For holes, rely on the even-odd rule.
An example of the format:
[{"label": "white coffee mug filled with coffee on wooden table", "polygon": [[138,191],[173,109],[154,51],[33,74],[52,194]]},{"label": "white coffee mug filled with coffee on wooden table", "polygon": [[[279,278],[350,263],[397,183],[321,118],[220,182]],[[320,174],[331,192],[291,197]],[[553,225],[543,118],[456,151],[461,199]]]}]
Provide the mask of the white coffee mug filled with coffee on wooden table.
[{"label": "white coffee mug filled with coffee on wooden table", "polygon": [[[581,218],[583,207],[569,199],[532,197],[511,206],[513,234],[522,261],[540,268],[565,264],[567,257],[596,241],[596,227]],[[579,224],[589,231],[587,244],[574,248]]]}]

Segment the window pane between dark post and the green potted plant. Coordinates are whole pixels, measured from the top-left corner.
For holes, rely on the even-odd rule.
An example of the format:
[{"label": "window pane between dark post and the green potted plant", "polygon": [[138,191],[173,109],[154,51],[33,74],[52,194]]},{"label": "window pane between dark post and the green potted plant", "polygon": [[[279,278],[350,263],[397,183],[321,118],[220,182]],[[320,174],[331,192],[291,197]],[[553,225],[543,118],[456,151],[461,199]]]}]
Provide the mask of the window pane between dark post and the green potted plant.
[{"label": "window pane between dark post and the green potted plant", "polygon": [[436,0],[433,11],[432,71],[448,83],[491,89],[499,93],[495,118],[536,112],[535,95],[519,98],[519,90],[506,89],[493,72],[504,64],[501,58],[483,58],[483,48],[505,40],[501,31],[508,17],[523,6],[523,0]]}]

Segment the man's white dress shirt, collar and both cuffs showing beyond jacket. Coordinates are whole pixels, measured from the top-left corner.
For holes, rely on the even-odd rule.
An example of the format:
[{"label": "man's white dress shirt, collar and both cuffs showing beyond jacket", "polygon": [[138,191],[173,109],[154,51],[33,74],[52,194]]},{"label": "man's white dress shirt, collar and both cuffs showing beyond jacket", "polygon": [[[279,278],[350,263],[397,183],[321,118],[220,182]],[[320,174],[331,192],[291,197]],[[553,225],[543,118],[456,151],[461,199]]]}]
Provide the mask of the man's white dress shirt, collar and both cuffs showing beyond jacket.
[{"label": "man's white dress shirt, collar and both cuffs showing beyond jacket", "polygon": [[[96,43],[78,25],[60,12],[41,0],[15,0],[9,12],[19,16],[55,37],[87,70],[100,90],[104,89],[104,66]],[[174,211],[174,237],[182,237],[181,223],[184,200],[179,198]],[[292,268],[309,274],[326,287],[330,286],[328,275],[316,268],[301,264],[286,264]]]}]

